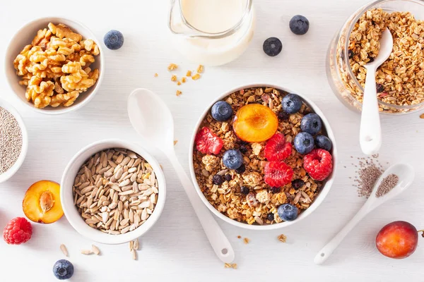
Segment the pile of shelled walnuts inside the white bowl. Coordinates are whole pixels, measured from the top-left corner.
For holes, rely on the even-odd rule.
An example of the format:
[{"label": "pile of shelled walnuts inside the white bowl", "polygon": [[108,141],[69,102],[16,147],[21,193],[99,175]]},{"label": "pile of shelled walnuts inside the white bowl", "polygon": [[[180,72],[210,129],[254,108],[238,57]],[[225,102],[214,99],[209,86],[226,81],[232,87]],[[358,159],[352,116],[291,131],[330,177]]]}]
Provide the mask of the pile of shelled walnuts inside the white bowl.
[{"label": "pile of shelled walnuts inside the white bowl", "polygon": [[69,27],[49,23],[38,30],[33,42],[13,61],[16,74],[26,86],[25,97],[38,109],[71,106],[79,94],[95,85],[98,69],[92,70],[99,47]]}]

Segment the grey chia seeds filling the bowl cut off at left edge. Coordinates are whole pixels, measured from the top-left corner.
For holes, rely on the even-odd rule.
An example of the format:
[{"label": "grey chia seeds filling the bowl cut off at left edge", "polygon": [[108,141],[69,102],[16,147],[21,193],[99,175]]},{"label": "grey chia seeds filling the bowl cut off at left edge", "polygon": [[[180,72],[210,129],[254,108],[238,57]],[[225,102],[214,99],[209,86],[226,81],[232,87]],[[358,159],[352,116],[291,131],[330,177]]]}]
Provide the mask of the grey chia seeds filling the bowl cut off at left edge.
[{"label": "grey chia seeds filling the bowl cut off at left edge", "polygon": [[22,149],[22,131],[16,118],[0,107],[0,174],[16,163]]}]

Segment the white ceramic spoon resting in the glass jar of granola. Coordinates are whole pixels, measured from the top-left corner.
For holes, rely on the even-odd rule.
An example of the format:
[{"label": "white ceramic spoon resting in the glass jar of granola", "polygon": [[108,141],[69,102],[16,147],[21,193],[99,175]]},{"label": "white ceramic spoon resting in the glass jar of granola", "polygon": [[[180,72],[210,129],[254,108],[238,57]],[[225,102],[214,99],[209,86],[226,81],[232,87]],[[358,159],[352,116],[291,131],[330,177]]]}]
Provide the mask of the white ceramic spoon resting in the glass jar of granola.
[{"label": "white ceramic spoon resting in the glass jar of granola", "polygon": [[386,61],[393,50],[393,37],[389,29],[384,30],[380,39],[378,56],[371,63],[367,63],[367,77],[365,78],[362,116],[360,118],[360,148],[364,154],[377,154],[382,146],[382,129],[379,121],[379,107],[375,73],[377,68]]}]

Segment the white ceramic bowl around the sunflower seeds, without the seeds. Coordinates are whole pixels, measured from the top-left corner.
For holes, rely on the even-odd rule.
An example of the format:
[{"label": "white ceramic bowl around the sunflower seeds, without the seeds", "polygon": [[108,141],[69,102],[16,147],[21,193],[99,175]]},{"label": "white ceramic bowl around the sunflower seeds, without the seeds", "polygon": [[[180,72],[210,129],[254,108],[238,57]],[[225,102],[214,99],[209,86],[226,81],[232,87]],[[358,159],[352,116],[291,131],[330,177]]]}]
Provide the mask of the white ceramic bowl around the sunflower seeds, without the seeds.
[{"label": "white ceramic bowl around the sunflower seeds, without the seeds", "polygon": [[[95,228],[88,226],[86,221],[84,221],[81,214],[78,213],[78,209],[73,204],[73,195],[72,195],[72,186],[73,181],[75,180],[76,174],[78,173],[81,166],[87,161],[88,158],[93,156],[93,154],[100,152],[104,149],[112,148],[124,148],[130,149],[136,154],[139,154],[141,157],[146,159],[146,161],[151,164],[153,171],[155,171],[156,178],[158,179],[158,200],[155,205],[155,209],[149,218],[144,222],[139,228],[136,228],[134,231],[130,231],[124,234],[112,235],[103,233]],[[103,244],[122,244],[139,238],[141,235],[146,233],[152,226],[158,221],[160,214],[162,213],[163,207],[165,205],[166,197],[166,185],[165,185],[165,176],[163,176],[162,168],[160,168],[158,161],[151,154],[148,154],[145,149],[139,145],[124,142],[122,140],[101,140],[90,144],[78,153],[75,157],[69,161],[69,164],[66,166],[64,174],[61,179],[61,189],[60,189],[60,200],[62,208],[64,209],[64,214],[66,219],[68,219],[71,226],[81,235],[90,240],[93,240],[98,243]]]}]

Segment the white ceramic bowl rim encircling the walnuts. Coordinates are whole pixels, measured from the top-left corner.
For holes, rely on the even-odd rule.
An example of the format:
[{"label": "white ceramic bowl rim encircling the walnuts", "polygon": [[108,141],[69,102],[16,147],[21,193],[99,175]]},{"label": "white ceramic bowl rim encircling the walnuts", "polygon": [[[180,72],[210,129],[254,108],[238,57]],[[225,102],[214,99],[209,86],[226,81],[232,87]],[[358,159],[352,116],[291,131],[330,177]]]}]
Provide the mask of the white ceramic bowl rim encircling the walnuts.
[{"label": "white ceramic bowl rim encircling the walnuts", "polygon": [[[47,22],[58,21],[58,22],[60,22],[60,21],[63,21],[63,20],[66,20],[66,21],[68,21],[70,23],[75,23],[76,25],[80,25],[90,35],[90,38],[88,38],[88,39],[92,39],[98,45],[99,51],[100,51],[100,54],[99,54],[100,55],[99,78],[95,82],[93,92],[91,92],[90,94],[88,94],[88,96],[86,97],[86,99],[84,99],[84,101],[81,102],[80,104],[75,104],[75,105],[71,105],[71,106],[67,106],[67,107],[56,108],[56,109],[54,109],[54,111],[46,111],[45,109],[35,108],[35,106],[31,106],[30,104],[23,102],[21,99],[19,99],[17,97],[18,94],[13,90],[13,87],[11,85],[11,81],[7,78],[7,74],[6,74],[8,72],[8,66],[9,66],[8,65],[9,48],[11,48],[11,42],[13,42],[13,40],[15,40],[16,37],[20,36],[21,32],[23,30],[25,30],[26,27],[28,27],[30,25],[33,25],[35,23],[42,22],[42,21],[47,21]],[[47,25],[46,25],[46,27],[47,27]],[[93,34],[93,32],[88,27],[86,27],[86,25],[83,25],[83,23],[80,23],[78,20],[72,20],[70,18],[64,18],[64,17],[58,17],[58,16],[46,16],[46,17],[36,18],[35,20],[31,20],[30,22],[25,23],[23,26],[21,26],[15,32],[15,35],[13,35],[13,37],[9,40],[8,46],[6,48],[6,52],[4,54],[4,73],[6,75],[6,80],[7,80],[7,85],[9,87],[9,90],[11,90],[11,92],[13,92],[13,94],[16,96],[16,98],[19,100],[19,102],[21,104],[25,104],[26,107],[32,109],[33,111],[36,111],[37,113],[46,114],[46,115],[66,114],[66,113],[69,113],[70,111],[76,111],[77,109],[81,109],[81,107],[83,107],[86,104],[88,104],[88,102],[90,102],[91,99],[93,99],[93,97],[95,96],[95,94],[98,92],[98,89],[99,89],[100,85],[103,82],[103,77],[104,77],[104,73],[105,73],[104,64],[105,64],[105,59],[104,59],[104,56],[103,56],[102,44],[98,40],[98,38],[95,37],[95,35]]]}]

